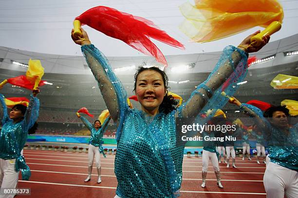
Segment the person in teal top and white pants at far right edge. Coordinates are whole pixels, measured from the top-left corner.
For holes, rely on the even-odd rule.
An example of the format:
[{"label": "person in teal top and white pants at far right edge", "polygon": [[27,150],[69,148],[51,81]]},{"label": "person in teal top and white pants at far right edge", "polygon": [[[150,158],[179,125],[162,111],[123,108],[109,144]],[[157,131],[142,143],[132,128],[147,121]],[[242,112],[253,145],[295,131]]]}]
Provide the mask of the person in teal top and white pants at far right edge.
[{"label": "person in teal top and white pants at far right edge", "polygon": [[290,127],[289,110],[285,106],[272,106],[264,113],[255,106],[230,101],[255,118],[266,137],[270,161],[266,164],[263,183],[267,198],[298,198],[298,124]]}]

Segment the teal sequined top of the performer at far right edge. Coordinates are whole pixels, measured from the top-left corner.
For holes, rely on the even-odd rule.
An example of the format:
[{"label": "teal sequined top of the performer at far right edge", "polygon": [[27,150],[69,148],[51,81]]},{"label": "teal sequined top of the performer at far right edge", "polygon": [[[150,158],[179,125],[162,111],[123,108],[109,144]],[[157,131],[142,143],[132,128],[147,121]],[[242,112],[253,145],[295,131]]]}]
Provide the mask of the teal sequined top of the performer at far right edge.
[{"label": "teal sequined top of the performer at far right edge", "polygon": [[289,134],[285,135],[284,132],[270,124],[259,108],[242,104],[240,109],[258,118],[258,127],[262,130],[263,136],[267,138],[270,162],[298,171],[298,123],[289,128]]}]

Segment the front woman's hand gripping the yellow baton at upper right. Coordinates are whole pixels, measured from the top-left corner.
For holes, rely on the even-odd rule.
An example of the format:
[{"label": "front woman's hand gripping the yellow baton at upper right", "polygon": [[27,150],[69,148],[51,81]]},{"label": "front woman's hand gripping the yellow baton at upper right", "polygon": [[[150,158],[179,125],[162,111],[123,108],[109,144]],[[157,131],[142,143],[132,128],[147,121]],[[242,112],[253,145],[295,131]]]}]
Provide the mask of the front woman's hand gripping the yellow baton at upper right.
[{"label": "front woman's hand gripping the yellow baton at upper right", "polygon": [[253,37],[254,35],[257,35],[258,33],[260,33],[261,31],[257,31],[249,36],[247,36],[242,42],[241,44],[238,46],[239,49],[242,49],[243,51],[246,51],[247,53],[252,53],[252,52],[257,52],[260,49],[262,49],[262,47],[264,47],[270,40],[270,35],[266,34],[265,36],[262,37],[262,43],[260,46],[255,47],[253,45],[251,45],[250,43],[250,39],[251,37]]}]

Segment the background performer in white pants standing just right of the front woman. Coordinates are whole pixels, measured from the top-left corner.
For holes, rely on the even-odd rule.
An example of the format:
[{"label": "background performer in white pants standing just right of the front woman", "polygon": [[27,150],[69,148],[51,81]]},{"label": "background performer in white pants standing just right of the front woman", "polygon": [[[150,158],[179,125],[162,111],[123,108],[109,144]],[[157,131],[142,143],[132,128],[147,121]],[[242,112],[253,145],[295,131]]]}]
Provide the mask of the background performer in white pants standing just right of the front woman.
[{"label": "background performer in white pants standing just right of the front woman", "polygon": [[[209,136],[209,137],[215,137],[214,132],[203,132],[202,136]],[[216,141],[205,141],[203,138],[203,154],[202,154],[202,161],[203,161],[203,167],[202,167],[202,179],[203,182],[201,184],[202,188],[205,188],[206,185],[206,176],[208,171],[208,164],[209,160],[212,163],[214,173],[216,175],[217,179],[217,185],[220,188],[223,188],[223,185],[221,183],[221,173],[218,165],[218,158],[216,155]]]}]

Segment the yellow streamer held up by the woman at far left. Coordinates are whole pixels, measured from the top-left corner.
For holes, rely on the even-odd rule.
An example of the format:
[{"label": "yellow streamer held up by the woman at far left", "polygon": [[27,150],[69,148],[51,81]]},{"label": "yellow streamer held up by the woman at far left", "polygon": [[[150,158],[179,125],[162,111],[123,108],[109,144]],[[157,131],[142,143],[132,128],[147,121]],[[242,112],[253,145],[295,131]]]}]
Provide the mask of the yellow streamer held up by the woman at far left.
[{"label": "yellow streamer held up by the woman at far left", "polygon": [[44,74],[44,68],[41,66],[39,60],[29,60],[28,70],[26,72],[26,78],[28,81],[35,83],[33,89],[36,89],[42,76]]}]

